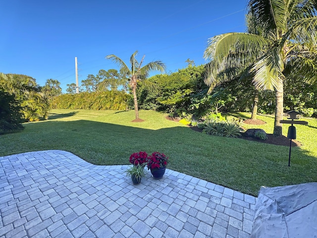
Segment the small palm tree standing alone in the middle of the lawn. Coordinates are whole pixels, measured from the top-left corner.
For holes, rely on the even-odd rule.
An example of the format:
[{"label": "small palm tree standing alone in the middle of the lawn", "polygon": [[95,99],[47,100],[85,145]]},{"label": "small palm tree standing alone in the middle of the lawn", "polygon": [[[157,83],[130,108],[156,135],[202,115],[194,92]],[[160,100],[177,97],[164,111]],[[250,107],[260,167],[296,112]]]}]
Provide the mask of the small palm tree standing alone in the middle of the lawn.
[{"label": "small palm tree standing alone in the middle of the lawn", "polygon": [[117,63],[120,67],[120,72],[122,72],[124,75],[127,75],[127,78],[106,78],[104,81],[102,81],[99,84],[99,87],[108,87],[110,86],[111,88],[114,87],[116,88],[119,85],[125,85],[128,84],[132,90],[133,94],[133,100],[134,100],[134,109],[135,109],[135,119],[139,119],[139,110],[138,110],[138,100],[137,100],[137,94],[136,94],[136,89],[137,85],[139,82],[143,82],[144,85],[146,86],[154,86],[153,83],[150,81],[146,80],[147,77],[149,76],[149,73],[151,71],[159,70],[161,72],[165,71],[165,64],[162,63],[160,60],[157,61],[152,61],[144,66],[142,66],[144,57],[140,61],[140,63],[135,59],[137,56],[138,51],[134,52],[130,58],[130,64],[131,68],[127,66],[127,64],[118,58],[115,55],[109,55],[106,56],[106,59],[112,60],[115,63]]}]

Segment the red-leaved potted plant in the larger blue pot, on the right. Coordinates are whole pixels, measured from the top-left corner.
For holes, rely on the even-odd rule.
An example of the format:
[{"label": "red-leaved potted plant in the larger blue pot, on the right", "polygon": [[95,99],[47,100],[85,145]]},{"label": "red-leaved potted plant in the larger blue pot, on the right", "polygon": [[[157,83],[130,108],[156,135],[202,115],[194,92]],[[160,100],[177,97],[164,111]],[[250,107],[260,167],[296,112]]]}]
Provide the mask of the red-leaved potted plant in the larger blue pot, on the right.
[{"label": "red-leaved potted plant in the larger blue pot, on the right", "polygon": [[151,170],[154,179],[161,179],[165,173],[168,157],[163,153],[153,152],[148,156],[148,170]]}]

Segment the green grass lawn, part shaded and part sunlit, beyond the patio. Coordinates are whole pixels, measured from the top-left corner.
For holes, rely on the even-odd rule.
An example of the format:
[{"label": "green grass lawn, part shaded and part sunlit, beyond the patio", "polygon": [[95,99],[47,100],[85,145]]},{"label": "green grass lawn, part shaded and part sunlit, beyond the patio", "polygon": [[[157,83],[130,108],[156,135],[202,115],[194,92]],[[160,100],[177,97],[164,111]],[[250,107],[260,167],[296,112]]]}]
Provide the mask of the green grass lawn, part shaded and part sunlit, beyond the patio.
[{"label": "green grass lawn, part shaded and part sunlit, beyond the patio", "polygon": [[[0,156],[59,149],[98,165],[128,164],[138,151],[163,152],[168,169],[257,196],[262,185],[281,186],[317,181],[317,120],[296,125],[302,147],[210,136],[165,119],[164,114],[140,111],[144,122],[131,122],[134,111],[53,110],[49,120],[25,123],[21,132],[0,135]],[[240,117],[248,116],[240,114]],[[273,117],[263,128],[273,131]],[[254,127],[243,125],[246,128]],[[284,125],[283,134],[287,134]]]}]

